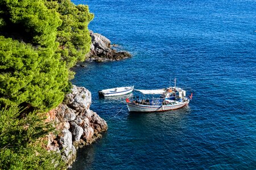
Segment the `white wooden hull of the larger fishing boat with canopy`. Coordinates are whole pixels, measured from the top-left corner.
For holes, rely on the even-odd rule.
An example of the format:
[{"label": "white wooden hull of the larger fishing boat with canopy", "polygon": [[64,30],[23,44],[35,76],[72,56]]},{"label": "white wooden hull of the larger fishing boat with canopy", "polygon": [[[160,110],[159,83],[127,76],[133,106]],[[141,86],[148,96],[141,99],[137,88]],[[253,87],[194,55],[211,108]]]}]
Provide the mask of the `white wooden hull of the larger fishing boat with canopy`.
[{"label": "white wooden hull of the larger fishing boat with canopy", "polygon": [[127,107],[129,112],[164,112],[182,108],[185,105],[188,105],[188,103],[189,100],[173,105],[142,105],[127,102]]}]

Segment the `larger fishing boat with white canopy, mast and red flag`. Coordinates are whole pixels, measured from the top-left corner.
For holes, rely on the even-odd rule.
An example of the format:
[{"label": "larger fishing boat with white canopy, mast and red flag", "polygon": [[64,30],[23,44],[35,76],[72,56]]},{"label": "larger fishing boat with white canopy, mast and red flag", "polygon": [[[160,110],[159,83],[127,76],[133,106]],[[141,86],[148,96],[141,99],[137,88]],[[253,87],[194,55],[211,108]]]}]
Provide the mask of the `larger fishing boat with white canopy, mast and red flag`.
[{"label": "larger fishing boat with white canopy, mast and red flag", "polygon": [[[179,109],[188,105],[192,99],[186,97],[186,91],[180,87],[168,87],[158,90],[137,90],[143,94],[143,97],[127,98],[126,104],[130,112],[163,112]],[[145,97],[150,95],[151,97]],[[159,97],[155,97],[158,95]]]}]

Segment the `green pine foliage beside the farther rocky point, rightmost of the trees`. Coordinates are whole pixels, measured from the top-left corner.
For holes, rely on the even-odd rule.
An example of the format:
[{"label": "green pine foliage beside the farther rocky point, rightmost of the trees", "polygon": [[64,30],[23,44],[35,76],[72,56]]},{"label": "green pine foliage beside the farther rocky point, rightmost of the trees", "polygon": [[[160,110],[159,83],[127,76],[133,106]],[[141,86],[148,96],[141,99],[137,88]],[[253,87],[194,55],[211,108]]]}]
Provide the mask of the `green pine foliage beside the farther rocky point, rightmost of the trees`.
[{"label": "green pine foliage beside the farther rocky point, rightmost of the trees", "polygon": [[48,0],[46,6],[60,14],[62,24],[57,28],[56,40],[60,43],[61,59],[70,69],[76,62],[84,61],[85,54],[90,50],[88,24],[93,14],[90,14],[88,6],[76,6],[70,0]]}]

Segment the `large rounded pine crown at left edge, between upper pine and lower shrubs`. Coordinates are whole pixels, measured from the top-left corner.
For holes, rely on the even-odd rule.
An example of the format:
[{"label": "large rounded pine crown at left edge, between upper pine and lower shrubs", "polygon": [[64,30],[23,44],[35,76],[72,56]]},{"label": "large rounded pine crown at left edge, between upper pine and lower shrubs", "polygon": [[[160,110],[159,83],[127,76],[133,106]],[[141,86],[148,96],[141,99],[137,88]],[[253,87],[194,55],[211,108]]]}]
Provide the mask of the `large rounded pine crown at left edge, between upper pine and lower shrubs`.
[{"label": "large rounded pine crown at left edge, between upper pine and lower shrubs", "polygon": [[0,36],[0,103],[14,102],[39,111],[56,107],[68,86],[60,55]]}]

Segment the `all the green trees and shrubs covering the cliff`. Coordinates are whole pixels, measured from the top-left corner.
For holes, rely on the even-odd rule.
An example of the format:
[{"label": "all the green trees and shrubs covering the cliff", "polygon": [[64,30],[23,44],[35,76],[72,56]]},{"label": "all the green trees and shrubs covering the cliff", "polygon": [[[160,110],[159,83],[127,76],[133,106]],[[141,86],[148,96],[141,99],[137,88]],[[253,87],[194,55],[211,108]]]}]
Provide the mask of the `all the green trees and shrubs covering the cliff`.
[{"label": "all the green trees and shrubs covering the cliff", "polygon": [[34,113],[63,101],[69,69],[89,52],[92,19],[88,6],[70,0],[0,1],[0,169],[51,164],[34,145],[48,129]]}]

